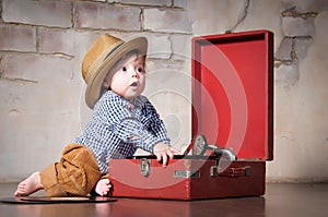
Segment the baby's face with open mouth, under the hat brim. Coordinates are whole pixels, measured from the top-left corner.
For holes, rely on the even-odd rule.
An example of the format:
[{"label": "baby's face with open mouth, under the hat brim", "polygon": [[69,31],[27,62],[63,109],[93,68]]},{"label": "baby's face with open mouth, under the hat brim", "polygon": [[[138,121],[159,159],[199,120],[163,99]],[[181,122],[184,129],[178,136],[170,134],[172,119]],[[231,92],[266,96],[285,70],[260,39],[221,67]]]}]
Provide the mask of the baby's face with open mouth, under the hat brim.
[{"label": "baby's face with open mouth, under the hat brim", "polygon": [[105,81],[110,89],[131,100],[139,96],[145,85],[144,58],[136,53],[121,59],[113,69],[113,76]]}]

